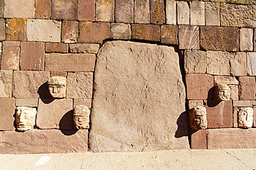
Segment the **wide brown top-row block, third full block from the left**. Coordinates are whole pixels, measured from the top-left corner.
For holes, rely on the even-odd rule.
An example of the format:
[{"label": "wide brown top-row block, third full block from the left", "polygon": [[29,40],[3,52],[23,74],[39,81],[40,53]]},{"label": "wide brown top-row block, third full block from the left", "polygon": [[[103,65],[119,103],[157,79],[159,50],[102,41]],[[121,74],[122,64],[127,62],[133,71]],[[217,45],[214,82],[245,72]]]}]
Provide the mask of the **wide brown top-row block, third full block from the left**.
[{"label": "wide brown top-row block, third full block from the left", "polygon": [[51,19],[76,20],[77,0],[52,1]]}]

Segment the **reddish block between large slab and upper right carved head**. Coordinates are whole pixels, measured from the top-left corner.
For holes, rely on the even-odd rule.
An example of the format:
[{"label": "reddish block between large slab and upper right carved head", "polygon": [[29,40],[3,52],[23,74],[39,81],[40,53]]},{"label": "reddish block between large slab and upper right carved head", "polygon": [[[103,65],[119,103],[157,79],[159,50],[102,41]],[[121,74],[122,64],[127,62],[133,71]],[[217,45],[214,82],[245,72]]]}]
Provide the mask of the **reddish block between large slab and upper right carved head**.
[{"label": "reddish block between large slab and upper right carved head", "polygon": [[185,76],[188,100],[213,98],[213,76],[208,74],[187,74]]}]

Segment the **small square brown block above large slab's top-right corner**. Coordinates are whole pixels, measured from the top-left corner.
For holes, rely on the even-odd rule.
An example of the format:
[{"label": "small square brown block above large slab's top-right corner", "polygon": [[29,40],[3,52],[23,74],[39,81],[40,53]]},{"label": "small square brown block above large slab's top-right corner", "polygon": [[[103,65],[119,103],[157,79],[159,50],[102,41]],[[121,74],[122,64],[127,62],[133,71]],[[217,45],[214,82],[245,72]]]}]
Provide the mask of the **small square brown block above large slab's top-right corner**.
[{"label": "small square brown block above large slab's top-right corner", "polygon": [[161,43],[178,44],[177,25],[161,25]]}]

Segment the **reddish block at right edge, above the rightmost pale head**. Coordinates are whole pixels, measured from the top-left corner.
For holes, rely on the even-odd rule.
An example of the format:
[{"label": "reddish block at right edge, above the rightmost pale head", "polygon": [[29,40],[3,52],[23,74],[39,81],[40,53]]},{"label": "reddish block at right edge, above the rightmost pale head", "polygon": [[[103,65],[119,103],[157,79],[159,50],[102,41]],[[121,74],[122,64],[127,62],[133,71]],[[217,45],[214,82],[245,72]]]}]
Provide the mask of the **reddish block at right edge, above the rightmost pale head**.
[{"label": "reddish block at right edge, above the rightmost pale head", "polygon": [[256,83],[254,76],[239,76],[239,100],[255,100]]}]

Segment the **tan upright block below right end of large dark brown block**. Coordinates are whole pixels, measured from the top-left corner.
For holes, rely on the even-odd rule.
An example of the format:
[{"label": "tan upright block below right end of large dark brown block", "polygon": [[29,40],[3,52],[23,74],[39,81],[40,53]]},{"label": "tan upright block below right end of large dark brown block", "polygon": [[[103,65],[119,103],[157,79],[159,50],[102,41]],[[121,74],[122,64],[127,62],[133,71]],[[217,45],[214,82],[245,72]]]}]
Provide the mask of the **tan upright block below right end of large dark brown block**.
[{"label": "tan upright block below right end of large dark brown block", "polygon": [[230,52],[231,76],[246,76],[246,52]]}]

